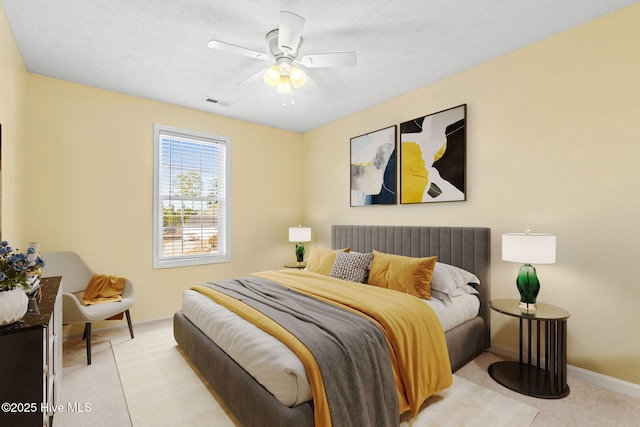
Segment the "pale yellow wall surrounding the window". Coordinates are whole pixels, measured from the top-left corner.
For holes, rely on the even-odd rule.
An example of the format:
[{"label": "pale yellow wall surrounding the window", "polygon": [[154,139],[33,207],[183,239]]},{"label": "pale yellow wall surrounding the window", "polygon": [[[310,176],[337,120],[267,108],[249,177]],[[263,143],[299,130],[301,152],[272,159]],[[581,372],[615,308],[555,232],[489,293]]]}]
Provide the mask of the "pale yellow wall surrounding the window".
[{"label": "pale yellow wall surrounding the window", "polygon": [[[115,92],[29,75],[22,190],[25,237],[74,250],[132,279],[140,321],[172,315],[190,285],[293,259],[302,212],[301,136]],[[153,124],[231,138],[230,263],[152,269]],[[46,267],[45,267],[46,272]]]}]

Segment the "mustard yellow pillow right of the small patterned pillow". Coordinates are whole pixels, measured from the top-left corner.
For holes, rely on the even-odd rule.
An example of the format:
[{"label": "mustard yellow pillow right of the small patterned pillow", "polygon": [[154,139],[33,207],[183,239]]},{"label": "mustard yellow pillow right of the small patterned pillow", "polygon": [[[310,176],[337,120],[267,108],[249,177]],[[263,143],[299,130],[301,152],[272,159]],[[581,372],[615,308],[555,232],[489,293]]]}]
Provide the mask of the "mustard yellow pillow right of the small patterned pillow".
[{"label": "mustard yellow pillow right of the small patterned pillow", "polygon": [[431,299],[431,275],[437,256],[413,258],[373,251],[369,284]]}]

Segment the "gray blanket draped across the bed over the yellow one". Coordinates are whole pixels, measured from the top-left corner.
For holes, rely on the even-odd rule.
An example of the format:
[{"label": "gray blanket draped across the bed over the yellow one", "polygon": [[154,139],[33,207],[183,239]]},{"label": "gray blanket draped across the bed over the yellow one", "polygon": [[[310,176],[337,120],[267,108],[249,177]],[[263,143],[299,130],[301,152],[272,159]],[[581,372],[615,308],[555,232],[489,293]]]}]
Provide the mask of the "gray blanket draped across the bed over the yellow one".
[{"label": "gray blanket draped across the bed over the yellow one", "polygon": [[399,425],[389,349],[371,321],[258,277],[206,286],[259,310],[311,351],[322,374],[333,426]]}]

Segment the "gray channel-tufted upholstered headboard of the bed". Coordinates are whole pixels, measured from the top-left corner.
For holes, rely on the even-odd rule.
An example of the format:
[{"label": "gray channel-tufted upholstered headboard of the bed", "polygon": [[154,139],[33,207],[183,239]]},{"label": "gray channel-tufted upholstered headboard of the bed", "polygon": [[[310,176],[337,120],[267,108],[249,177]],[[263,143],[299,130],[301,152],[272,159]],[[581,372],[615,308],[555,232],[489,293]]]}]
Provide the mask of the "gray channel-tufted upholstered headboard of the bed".
[{"label": "gray channel-tufted upholstered headboard of the bed", "polygon": [[491,229],[486,227],[422,227],[333,225],[331,247],[356,252],[377,250],[412,257],[438,256],[440,262],[474,273],[480,279],[480,316],[485,321],[485,348],[491,342]]}]

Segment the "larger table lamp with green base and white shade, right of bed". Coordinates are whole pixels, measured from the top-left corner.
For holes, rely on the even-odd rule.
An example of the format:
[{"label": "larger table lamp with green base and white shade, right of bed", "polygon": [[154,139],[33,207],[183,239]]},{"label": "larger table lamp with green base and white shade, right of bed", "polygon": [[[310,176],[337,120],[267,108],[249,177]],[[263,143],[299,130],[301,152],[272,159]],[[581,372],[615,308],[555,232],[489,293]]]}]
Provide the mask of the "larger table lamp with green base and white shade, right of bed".
[{"label": "larger table lamp with green base and white shade, right of bed", "polygon": [[556,235],[547,233],[505,233],[502,235],[502,259],[523,263],[518,272],[516,286],[520,292],[520,308],[536,309],[540,281],[531,264],[555,264]]}]

